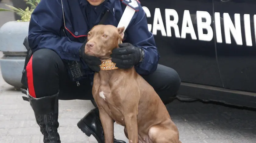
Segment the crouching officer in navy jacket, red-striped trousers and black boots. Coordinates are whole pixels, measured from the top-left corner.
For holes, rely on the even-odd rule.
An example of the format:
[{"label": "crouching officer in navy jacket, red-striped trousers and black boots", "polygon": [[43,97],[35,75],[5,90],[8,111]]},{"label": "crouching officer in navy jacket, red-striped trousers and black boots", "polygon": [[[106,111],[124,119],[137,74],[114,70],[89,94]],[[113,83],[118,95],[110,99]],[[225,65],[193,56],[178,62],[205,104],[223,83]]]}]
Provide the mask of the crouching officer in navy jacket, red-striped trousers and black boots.
[{"label": "crouching officer in navy jacket, red-striped trousers and black boots", "polygon": [[[126,28],[123,44],[112,51],[119,68],[135,66],[163,101],[174,96],[180,77],[172,68],[159,65],[160,58],[140,3]],[[31,15],[22,83],[34,110],[44,143],[60,143],[58,100],[93,100],[97,57],[84,54],[87,33],[94,25],[117,26],[126,5],[120,0],[41,0]],[[103,20],[105,19],[105,20]],[[103,20],[103,21],[102,21]],[[86,114],[86,113],[85,113]],[[104,143],[98,108],[78,123],[87,135]],[[39,129],[39,128],[38,128]],[[114,140],[115,143],[124,143]]]}]

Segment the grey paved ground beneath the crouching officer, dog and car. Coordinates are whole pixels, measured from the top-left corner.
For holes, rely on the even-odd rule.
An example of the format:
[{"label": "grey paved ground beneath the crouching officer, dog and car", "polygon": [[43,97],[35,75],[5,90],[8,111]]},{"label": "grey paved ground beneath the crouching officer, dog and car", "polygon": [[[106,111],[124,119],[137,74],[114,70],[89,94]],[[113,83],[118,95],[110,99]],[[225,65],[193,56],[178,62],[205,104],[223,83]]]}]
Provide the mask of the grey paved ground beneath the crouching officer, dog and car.
[{"label": "grey paved ground beneath the crouching officer, dog and car", "polygon": [[[4,0],[6,1],[6,0]],[[3,7],[5,3],[0,3]],[[13,20],[13,13],[0,12],[0,26]],[[0,57],[1,57],[0,53]],[[0,73],[0,142],[42,143],[29,102]],[[63,143],[96,143],[76,123],[93,108],[90,101],[59,101],[59,132]],[[255,143],[256,112],[201,102],[174,101],[166,105],[183,143]],[[123,127],[115,125],[115,137],[127,141]]]}]

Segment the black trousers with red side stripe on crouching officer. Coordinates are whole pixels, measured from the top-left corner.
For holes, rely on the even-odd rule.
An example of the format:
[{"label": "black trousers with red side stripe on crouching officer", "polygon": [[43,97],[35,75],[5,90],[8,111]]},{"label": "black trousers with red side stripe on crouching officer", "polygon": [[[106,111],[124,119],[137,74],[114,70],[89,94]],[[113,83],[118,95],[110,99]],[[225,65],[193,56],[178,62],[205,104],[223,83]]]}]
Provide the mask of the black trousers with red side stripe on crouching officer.
[{"label": "black trousers with red side stripe on crouching officer", "polygon": [[[90,80],[71,81],[62,59],[54,51],[40,49],[34,52],[26,67],[27,84],[31,96],[41,98],[51,96],[59,91],[60,100],[92,100]],[[142,75],[155,89],[162,101],[176,95],[180,87],[178,73],[169,67],[158,65],[150,75]]]}]

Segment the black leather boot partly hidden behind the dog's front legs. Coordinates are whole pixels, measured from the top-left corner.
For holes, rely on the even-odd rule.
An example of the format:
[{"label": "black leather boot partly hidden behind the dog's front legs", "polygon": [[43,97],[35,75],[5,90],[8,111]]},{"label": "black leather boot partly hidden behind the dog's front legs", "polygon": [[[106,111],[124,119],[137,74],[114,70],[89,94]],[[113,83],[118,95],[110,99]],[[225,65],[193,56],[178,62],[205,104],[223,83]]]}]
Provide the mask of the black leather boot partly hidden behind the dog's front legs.
[{"label": "black leather boot partly hidden behind the dog's front legs", "polygon": [[[88,137],[93,135],[98,143],[105,143],[104,132],[101,125],[101,120],[99,117],[99,109],[92,109],[87,115],[84,116],[78,123],[78,128],[81,129]],[[126,143],[122,140],[117,140],[114,138],[114,143]]]}]

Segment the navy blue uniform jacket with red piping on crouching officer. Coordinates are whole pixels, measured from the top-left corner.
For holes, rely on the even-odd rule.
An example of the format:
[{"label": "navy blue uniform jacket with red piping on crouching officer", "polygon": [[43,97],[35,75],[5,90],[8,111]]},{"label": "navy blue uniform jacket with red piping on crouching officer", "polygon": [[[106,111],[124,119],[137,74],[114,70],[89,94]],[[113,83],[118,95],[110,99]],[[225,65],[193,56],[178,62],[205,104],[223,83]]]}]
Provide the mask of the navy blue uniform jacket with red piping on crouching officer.
[{"label": "navy blue uniform jacket with red piping on crouching officer", "polygon": [[[106,10],[110,13],[104,25],[117,27],[126,5],[120,0],[105,0],[99,6],[92,6],[86,0],[62,0],[62,3],[66,26],[61,0],[41,0],[37,5],[29,25],[29,46],[33,51],[52,49],[63,61],[80,61],[85,71],[90,71],[79,56],[79,49],[87,40],[87,33],[100,22]],[[139,11],[135,12],[126,28],[123,42],[144,49],[145,58],[135,69],[139,74],[145,75],[156,70],[160,56],[153,34],[148,31],[145,12],[140,2],[137,3]]]}]

